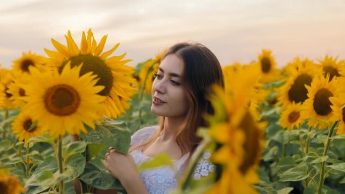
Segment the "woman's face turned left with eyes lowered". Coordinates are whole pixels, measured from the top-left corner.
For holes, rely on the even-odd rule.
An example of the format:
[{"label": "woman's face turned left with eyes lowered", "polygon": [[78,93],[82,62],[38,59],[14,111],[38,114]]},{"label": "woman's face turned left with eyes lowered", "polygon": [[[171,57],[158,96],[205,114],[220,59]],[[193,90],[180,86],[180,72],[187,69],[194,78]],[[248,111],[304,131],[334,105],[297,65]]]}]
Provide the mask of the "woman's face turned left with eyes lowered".
[{"label": "woman's face turned left with eyes lowered", "polygon": [[183,74],[182,59],[176,54],[165,56],[152,85],[152,113],[167,117],[186,115],[188,102]]}]

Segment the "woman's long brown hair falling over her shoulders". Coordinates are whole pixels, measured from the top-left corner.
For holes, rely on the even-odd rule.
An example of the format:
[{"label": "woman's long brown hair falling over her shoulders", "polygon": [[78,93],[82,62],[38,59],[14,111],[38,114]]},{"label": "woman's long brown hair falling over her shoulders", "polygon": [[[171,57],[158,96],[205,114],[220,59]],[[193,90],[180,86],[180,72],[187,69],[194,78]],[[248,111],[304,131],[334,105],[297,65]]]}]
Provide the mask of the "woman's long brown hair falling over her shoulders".
[{"label": "woman's long brown hair falling over her shoulders", "polygon": [[[161,60],[169,54],[178,55],[184,62],[184,83],[188,113],[176,135],[176,142],[183,154],[193,152],[201,139],[196,132],[201,126],[208,126],[203,118],[205,113],[213,114],[211,103],[207,99],[210,94],[210,86],[218,84],[224,87],[221,67],[217,57],[204,45],[199,43],[178,43],[171,46]],[[135,146],[130,151],[138,148],[146,148],[153,143],[164,127],[165,117],[160,116],[157,132],[145,143]]]}]

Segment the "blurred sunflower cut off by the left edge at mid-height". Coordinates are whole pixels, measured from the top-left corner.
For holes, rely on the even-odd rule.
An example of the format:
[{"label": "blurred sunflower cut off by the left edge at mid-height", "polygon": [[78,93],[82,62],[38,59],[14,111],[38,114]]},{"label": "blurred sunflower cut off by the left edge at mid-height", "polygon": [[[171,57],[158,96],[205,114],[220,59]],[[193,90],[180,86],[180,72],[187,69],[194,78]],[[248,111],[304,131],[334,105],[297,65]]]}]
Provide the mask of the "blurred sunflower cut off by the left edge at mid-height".
[{"label": "blurred sunflower cut off by the left edge at mid-height", "polygon": [[12,97],[12,94],[9,93],[9,85],[14,82],[13,72],[11,70],[1,69],[0,75],[0,84],[2,85],[0,87],[0,99],[2,99],[2,105],[7,109],[14,109],[16,107],[13,104],[13,101],[10,99]]}]

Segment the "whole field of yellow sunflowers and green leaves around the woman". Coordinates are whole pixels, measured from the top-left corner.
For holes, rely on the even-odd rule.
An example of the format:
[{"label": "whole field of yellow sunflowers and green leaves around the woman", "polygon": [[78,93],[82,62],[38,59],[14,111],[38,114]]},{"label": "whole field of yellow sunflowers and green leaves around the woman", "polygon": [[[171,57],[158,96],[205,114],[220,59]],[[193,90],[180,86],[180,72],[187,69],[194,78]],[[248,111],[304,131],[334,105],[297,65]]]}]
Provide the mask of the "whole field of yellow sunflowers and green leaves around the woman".
[{"label": "whole field of yellow sunflowers and green leaves around the woman", "polygon": [[[117,189],[102,164],[108,147],[127,154],[131,135],[158,120],[151,86],[162,49],[136,67],[107,35],[51,39],[46,56],[31,51],[0,69],[0,194],[82,193]],[[99,42],[97,42],[99,41]],[[179,186],[182,193],[345,193],[345,60],[296,57],[277,69],[263,49],[250,64],[223,65],[213,86],[215,110]],[[192,172],[208,150],[214,173]],[[171,165],[157,155],[138,170]]]}]

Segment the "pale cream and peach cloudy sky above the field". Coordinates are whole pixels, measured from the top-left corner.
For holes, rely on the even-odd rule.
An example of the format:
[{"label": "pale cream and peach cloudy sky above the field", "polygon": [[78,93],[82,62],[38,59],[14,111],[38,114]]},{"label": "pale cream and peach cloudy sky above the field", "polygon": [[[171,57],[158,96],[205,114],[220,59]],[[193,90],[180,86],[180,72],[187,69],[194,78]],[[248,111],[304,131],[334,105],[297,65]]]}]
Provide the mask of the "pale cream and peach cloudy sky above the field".
[{"label": "pale cream and peach cloudy sky above the field", "polygon": [[105,49],[120,42],[115,54],[127,52],[131,66],[181,41],[204,44],[222,65],[262,48],[279,67],[295,56],[345,59],[345,0],[0,0],[0,63],[10,68],[29,50],[46,56],[50,38],[66,44],[68,30],[79,44],[89,28],[97,42],[108,34]]}]

